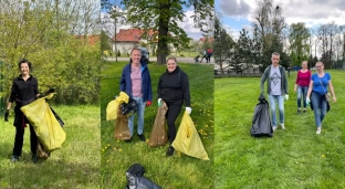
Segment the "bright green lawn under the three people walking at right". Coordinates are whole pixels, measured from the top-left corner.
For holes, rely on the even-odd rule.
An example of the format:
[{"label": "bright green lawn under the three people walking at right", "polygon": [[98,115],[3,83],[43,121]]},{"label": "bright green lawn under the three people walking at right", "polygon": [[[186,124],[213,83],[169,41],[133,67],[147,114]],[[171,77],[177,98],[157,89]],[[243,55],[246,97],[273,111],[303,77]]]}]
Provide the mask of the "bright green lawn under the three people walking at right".
[{"label": "bright green lawn under the three people walking at right", "polygon": [[216,188],[345,188],[344,71],[330,73],[337,103],[331,104],[321,135],[315,134],[310,108],[296,115],[292,72],[286,129],[279,127],[272,138],[253,138],[249,133],[260,77],[215,80]]}]

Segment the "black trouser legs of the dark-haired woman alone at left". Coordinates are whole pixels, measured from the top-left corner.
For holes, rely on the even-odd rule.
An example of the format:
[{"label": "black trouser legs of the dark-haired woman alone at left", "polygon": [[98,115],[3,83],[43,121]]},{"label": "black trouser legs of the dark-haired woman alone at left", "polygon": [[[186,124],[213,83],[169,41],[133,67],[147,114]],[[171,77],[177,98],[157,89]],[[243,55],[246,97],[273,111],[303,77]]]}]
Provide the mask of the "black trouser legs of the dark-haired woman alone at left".
[{"label": "black trouser legs of the dark-haired woman alone at left", "polygon": [[[31,145],[31,153],[32,155],[36,154],[38,149],[38,136],[33,130],[33,127],[31,124],[29,124],[30,128],[30,145]],[[23,143],[24,143],[24,132],[25,129],[22,127],[15,127],[15,138],[14,138],[14,147],[13,147],[13,156],[20,156]]]}]

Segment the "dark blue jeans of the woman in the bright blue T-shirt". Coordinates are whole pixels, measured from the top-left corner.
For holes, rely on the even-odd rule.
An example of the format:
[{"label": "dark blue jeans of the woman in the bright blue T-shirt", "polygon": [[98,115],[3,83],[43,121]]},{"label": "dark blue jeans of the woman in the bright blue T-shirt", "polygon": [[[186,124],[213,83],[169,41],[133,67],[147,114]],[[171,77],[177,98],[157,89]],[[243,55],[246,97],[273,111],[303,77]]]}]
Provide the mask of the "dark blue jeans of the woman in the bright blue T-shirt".
[{"label": "dark blue jeans of the woman in the bright blue T-shirt", "polygon": [[321,127],[322,120],[325,118],[327,113],[327,102],[324,95],[312,93],[311,103],[313,104],[314,117],[316,127]]}]

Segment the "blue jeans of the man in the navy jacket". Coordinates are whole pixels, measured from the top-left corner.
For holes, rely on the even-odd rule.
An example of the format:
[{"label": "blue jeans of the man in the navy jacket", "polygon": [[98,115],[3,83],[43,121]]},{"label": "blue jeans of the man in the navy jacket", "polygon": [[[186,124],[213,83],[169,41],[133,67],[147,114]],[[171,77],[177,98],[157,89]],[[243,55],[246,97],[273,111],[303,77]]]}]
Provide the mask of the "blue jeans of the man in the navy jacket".
[{"label": "blue jeans of the man in the navy jacket", "polygon": [[[138,135],[142,135],[144,133],[144,113],[145,113],[145,102],[143,102],[143,97],[133,97],[136,101],[136,105],[138,106],[138,111],[136,112],[138,120]],[[128,117],[128,127],[130,130],[130,136],[133,136],[134,130],[134,116],[136,114],[133,114]]]}]

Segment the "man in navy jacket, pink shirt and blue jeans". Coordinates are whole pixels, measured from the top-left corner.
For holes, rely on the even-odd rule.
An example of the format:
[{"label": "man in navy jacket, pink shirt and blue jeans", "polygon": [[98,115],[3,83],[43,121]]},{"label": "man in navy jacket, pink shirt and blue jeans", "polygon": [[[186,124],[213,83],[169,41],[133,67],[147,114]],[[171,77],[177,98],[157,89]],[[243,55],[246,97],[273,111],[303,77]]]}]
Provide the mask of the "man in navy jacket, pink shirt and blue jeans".
[{"label": "man in navy jacket, pink shirt and blue jeans", "polygon": [[[130,52],[130,62],[123,72],[119,82],[119,91],[125,92],[130,98],[135,99],[138,107],[137,111],[137,135],[142,141],[145,141],[144,135],[144,114],[145,105],[150,106],[153,101],[151,80],[147,64],[140,62],[142,52],[134,48]],[[134,133],[134,116],[128,118],[128,127],[130,132],[130,141]]]}]

